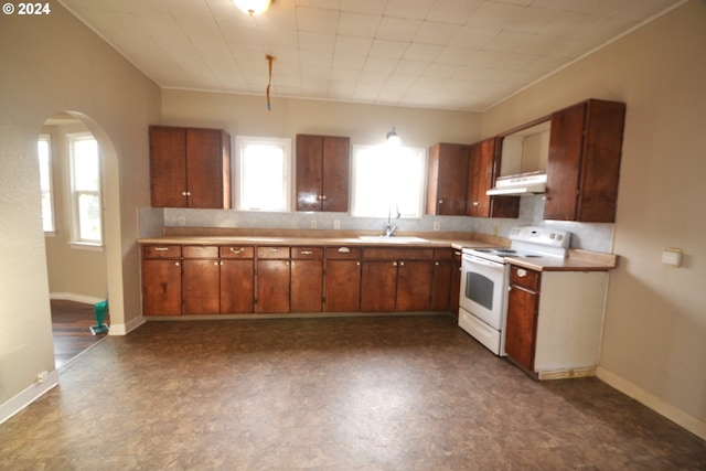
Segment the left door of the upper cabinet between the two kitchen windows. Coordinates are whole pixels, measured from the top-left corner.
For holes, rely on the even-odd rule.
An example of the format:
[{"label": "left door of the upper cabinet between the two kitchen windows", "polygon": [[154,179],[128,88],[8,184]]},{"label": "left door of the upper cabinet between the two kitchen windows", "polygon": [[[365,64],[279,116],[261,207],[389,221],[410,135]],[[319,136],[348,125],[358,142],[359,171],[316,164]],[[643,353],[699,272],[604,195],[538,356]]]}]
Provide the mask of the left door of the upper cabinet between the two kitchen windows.
[{"label": "left door of the upper cabinet between the two kitchen windows", "polygon": [[297,211],[321,211],[323,136],[297,136]]}]

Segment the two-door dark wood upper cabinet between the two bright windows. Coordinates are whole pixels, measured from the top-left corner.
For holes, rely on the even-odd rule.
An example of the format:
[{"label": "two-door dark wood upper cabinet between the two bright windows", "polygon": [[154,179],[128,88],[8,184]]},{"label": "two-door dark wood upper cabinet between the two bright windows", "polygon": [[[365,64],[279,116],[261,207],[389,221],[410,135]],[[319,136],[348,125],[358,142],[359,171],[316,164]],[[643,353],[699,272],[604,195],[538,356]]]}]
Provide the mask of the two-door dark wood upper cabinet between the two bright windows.
[{"label": "two-door dark wood upper cabinet between the two bright windows", "polygon": [[349,211],[350,139],[297,135],[297,211]]}]

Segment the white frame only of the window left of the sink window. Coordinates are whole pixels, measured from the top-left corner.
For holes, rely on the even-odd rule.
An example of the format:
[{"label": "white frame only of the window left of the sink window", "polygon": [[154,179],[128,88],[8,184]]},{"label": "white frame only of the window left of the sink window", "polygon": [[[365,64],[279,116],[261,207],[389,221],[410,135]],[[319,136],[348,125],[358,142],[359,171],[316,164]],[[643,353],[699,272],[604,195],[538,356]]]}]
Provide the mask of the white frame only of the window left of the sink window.
[{"label": "white frame only of the window left of the sink window", "polygon": [[[267,144],[281,149],[282,158],[282,200],[281,206],[278,208],[254,208],[243,207],[243,202],[247,201],[247,196],[244,194],[247,191],[248,185],[245,184],[245,160],[244,154],[248,146],[252,144]],[[275,138],[264,136],[236,136],[235,137],[235,152],[233,152],[233,178],[232,188],[233,191],[233,207],[236,211],[253,212],[253,213],[291,213],[292,211],[292,150],[290,138]]]}]

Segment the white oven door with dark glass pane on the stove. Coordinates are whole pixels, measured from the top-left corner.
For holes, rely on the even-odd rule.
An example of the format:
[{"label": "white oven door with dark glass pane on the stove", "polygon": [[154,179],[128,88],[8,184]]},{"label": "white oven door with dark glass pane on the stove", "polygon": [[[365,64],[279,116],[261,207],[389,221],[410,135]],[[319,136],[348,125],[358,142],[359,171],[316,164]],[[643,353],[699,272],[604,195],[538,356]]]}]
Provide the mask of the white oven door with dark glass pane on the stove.
[{"label": "white oven door with dark glass pane on the stove", "polygon": [[461,308],[496,331],[504,330],[507,270],[505,264],[463,254]]}]

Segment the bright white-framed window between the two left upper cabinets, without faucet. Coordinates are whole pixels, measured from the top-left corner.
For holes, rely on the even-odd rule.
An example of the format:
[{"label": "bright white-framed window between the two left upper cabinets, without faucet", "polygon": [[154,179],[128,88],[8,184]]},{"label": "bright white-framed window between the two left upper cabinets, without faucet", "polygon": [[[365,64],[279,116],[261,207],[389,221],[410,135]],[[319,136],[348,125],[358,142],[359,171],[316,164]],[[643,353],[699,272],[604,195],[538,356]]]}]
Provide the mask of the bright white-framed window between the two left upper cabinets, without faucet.
[{"label": "bright white-framed window between the two left upper cabinets, without faucet", "polygon": [[291,139],[236,136],[234,207],[290,211]]}]

